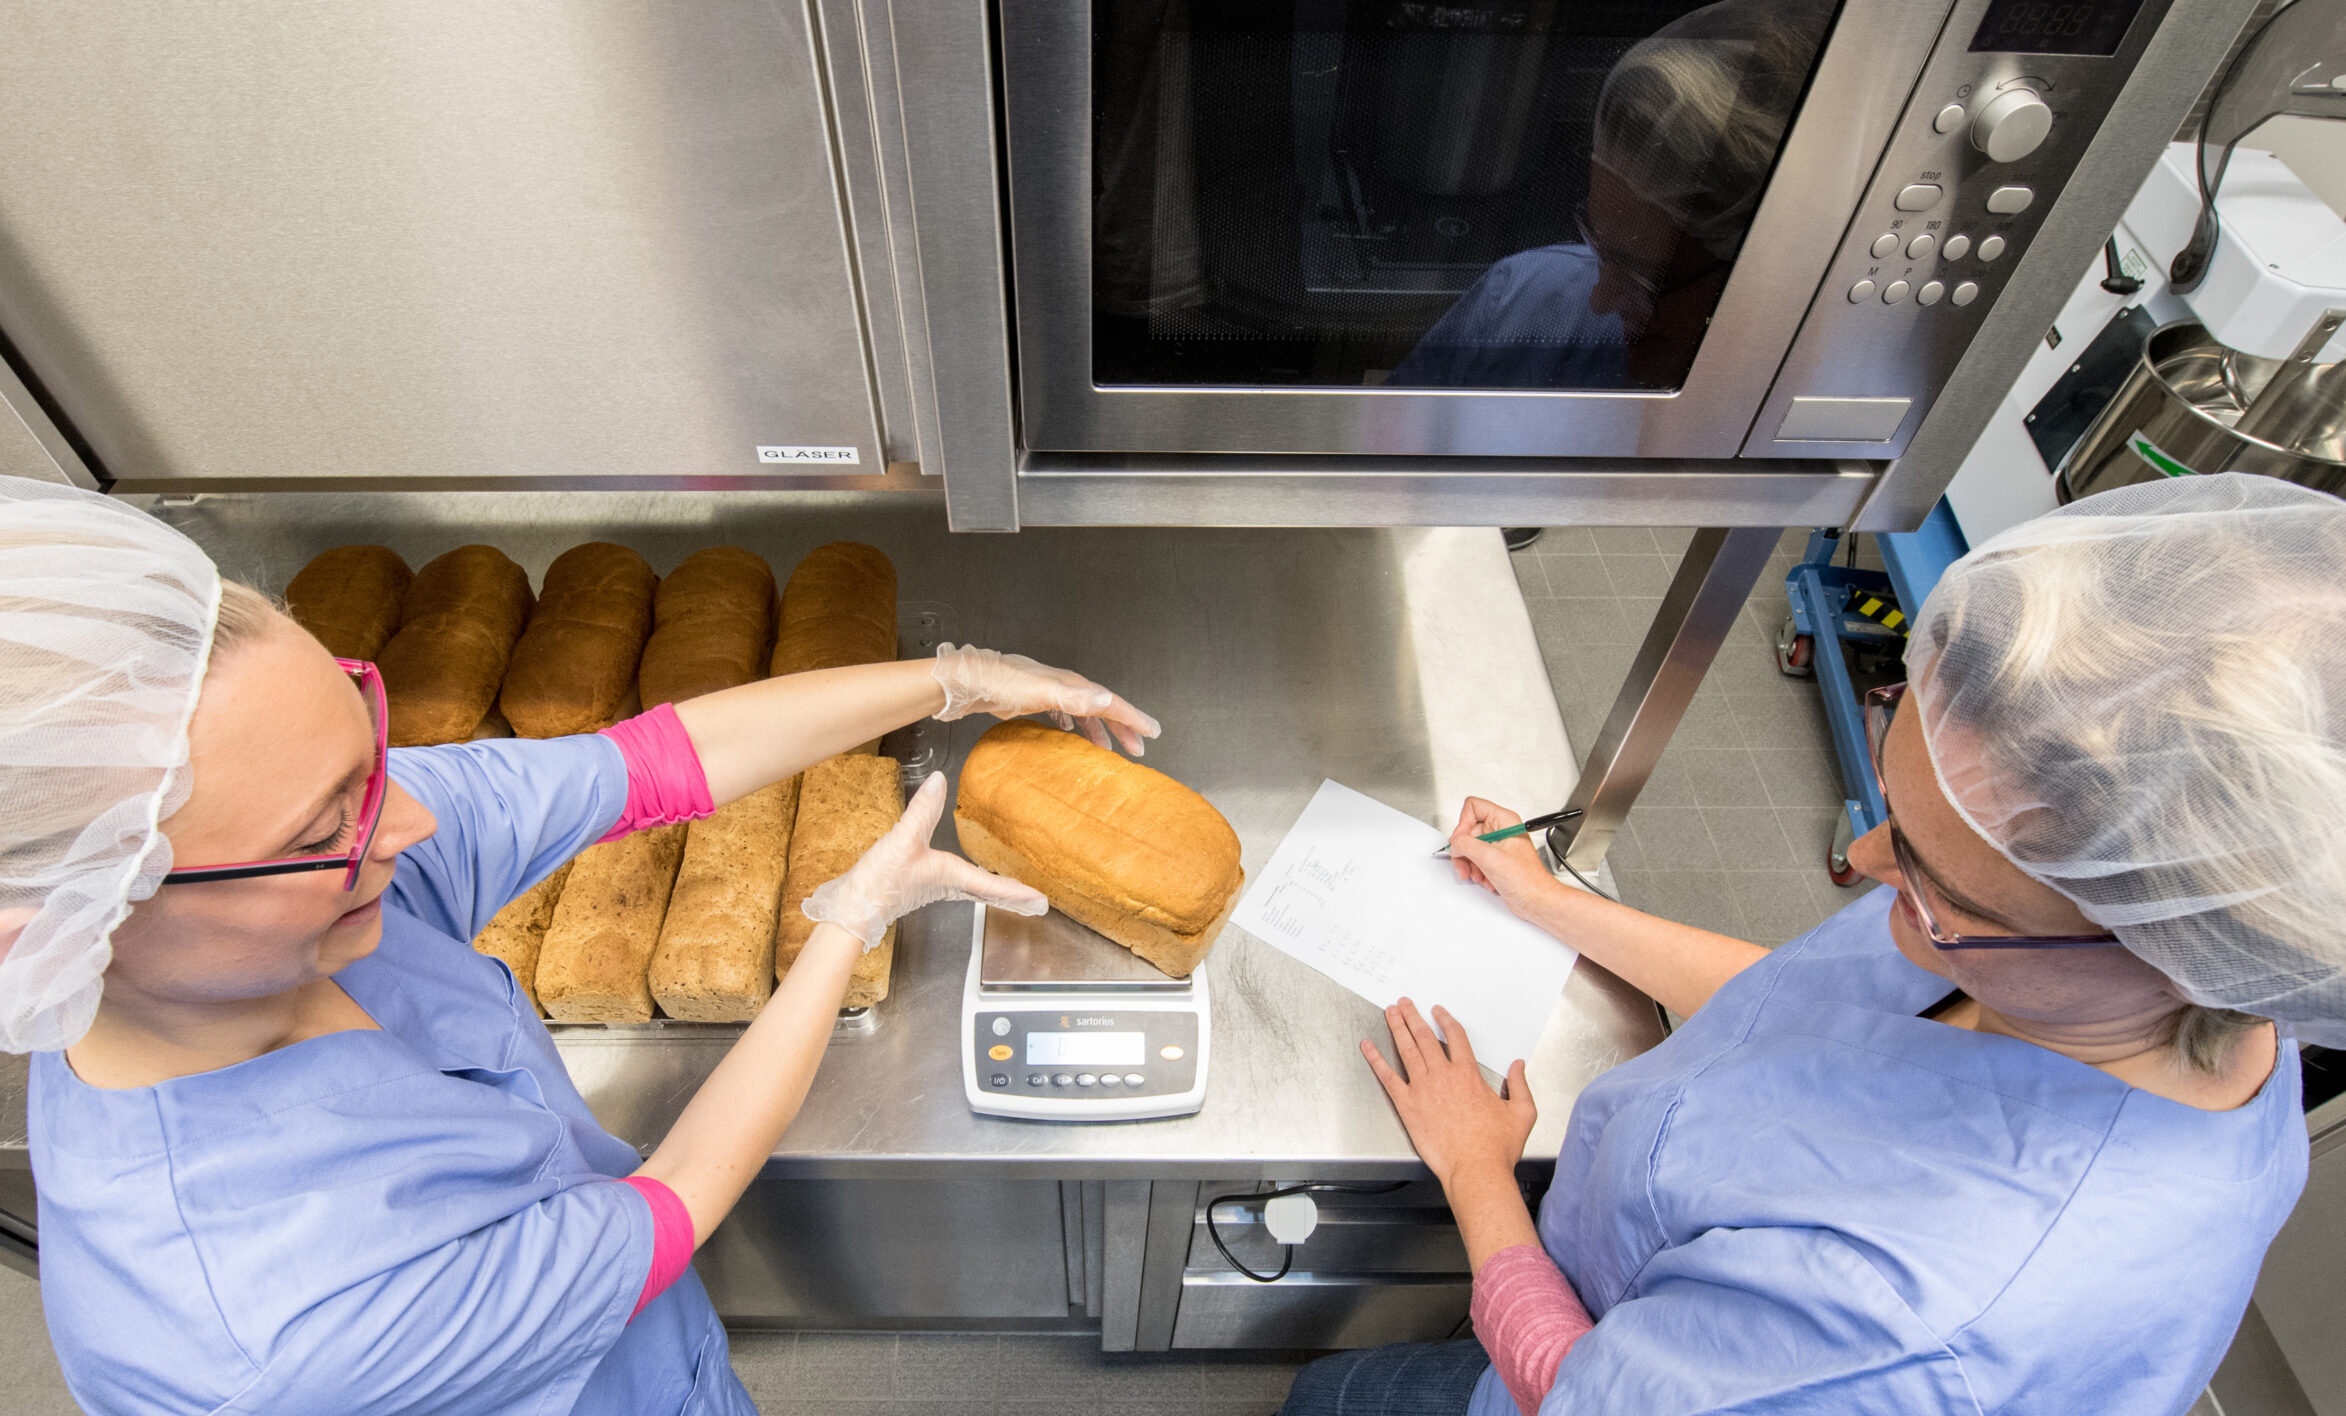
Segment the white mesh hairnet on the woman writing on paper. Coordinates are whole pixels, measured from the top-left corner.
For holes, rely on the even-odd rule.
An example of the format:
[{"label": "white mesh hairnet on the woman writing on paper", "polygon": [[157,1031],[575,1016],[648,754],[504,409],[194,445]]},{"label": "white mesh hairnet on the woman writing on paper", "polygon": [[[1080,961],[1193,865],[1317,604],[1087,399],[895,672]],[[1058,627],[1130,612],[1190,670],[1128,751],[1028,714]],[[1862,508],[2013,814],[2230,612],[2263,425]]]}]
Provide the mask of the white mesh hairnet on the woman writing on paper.
[{"label": "white mesh hairnet on the woman writing on paper", "polygon": [[2210,1008],[2346,1046],[2346,502],[2184,476],[1989,539],[1914,617],[1957,811]]}]

